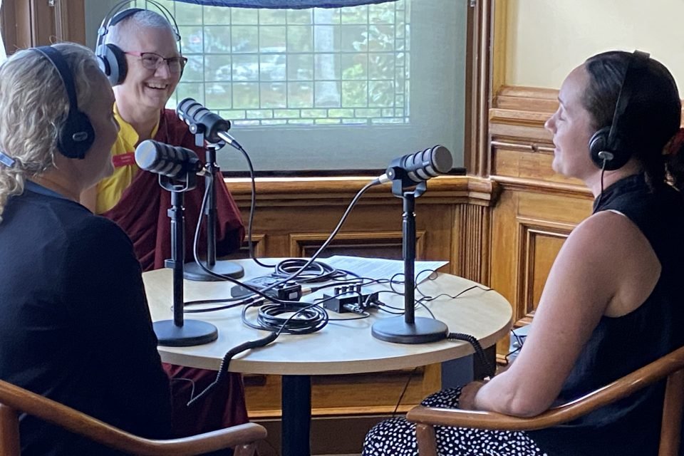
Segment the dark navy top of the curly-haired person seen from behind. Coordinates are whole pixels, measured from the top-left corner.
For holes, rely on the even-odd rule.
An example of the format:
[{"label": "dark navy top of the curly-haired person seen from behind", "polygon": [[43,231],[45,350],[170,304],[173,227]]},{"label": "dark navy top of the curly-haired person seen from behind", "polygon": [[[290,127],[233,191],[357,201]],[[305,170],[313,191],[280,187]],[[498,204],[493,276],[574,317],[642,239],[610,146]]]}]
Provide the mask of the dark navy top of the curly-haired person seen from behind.
[{"label": "dark navy top of the curly-haired person seen from behind", "polygon": [[[142,437],[171,433],[140,264],[125,233],[27,183],[0,223],[0,378]],[[21,418],[22,455],[114,455]]]}]

